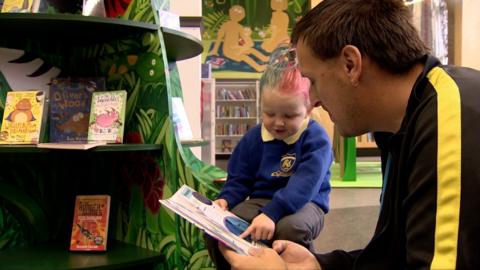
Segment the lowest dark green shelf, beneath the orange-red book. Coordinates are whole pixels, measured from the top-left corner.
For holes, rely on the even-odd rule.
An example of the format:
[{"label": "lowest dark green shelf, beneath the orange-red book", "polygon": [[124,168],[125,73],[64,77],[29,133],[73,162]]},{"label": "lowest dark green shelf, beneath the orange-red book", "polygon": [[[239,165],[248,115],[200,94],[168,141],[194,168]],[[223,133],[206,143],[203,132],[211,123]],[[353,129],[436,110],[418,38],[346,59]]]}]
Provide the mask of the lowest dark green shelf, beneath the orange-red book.
[{"label": "lowest dark green shelf, beneath the orange-red book", "polygon": [[[159,252],[111,241],[105,252],[70,252],[67,245],[40,244],[0,252],[2,269],[153,269],[163,259]],[[4,268],[5,267],[5,268]],[[137,268],[136,268],[137,269]]]}]

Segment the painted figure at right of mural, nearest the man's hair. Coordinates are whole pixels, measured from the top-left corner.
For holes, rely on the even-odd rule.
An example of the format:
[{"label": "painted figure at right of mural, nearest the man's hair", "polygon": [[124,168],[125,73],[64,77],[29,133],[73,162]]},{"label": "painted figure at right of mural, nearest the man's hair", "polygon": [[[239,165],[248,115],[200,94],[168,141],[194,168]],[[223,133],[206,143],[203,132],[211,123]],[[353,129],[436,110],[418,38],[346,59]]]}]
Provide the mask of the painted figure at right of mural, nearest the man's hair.
[{"label": "painted figure at right of mural, nearest the man's hair", "polygon": [[272,19],[267,30],[270,37],[265,39],[262,43],[262,49],[267,52],[272,52],[279,44],[289,43],[290,36],[288,35],[288,23],[290,21],[288,13],[288,0],[271,0]]}]

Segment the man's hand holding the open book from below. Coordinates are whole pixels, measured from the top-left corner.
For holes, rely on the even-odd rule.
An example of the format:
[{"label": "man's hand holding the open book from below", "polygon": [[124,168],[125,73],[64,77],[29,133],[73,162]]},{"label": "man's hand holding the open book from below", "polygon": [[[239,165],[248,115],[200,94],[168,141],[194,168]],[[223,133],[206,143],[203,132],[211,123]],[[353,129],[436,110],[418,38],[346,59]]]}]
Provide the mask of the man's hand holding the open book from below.
[{"label": "man's hand holding the open book from below", "polygon": [[273,249],[252,248],[249,256],[240,255],[223,244],[218,247],[234,270],[322,270],[308,249],[291,241],[275,241]]}]

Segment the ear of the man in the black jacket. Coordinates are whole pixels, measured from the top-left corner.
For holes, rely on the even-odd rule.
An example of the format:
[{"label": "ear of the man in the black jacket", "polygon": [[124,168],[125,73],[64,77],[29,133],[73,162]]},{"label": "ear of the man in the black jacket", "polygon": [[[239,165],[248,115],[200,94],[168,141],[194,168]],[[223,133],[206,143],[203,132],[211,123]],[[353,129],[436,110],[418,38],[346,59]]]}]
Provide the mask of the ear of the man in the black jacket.
[{"label": "ear of the man in the black jacket", "polygon": [[358,86],[362,74],[362,54],[353,45],[346,45],[340,53],[342,67],[353,86]]}]

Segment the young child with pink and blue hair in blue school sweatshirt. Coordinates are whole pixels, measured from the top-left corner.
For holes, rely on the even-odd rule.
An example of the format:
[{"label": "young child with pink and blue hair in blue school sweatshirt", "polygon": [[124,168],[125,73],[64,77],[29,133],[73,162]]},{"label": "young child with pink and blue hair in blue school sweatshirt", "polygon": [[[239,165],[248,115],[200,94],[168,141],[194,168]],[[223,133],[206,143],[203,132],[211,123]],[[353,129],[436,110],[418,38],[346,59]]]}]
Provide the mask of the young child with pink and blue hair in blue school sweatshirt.
[{"label": "young child with pink and blue hair in blue school sweatshirt", "polygon": [[[309,118],[310,83],[293,53],[285,47],[272,53],[260,79],[262,123],[235,147],[215,203],[251,223],[240,237],[313,249],[329,209],[333,155],[327,133]],[[223,269],[216,242],[207,237],[207,247]]]}]

